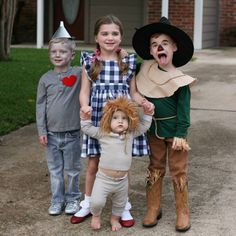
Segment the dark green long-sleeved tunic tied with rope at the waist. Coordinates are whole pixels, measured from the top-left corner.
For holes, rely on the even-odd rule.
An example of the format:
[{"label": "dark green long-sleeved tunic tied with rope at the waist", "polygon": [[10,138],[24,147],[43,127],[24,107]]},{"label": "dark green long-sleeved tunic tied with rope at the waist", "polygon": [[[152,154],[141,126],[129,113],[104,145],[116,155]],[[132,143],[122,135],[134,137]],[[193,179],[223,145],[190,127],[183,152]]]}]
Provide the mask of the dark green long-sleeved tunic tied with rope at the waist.
[{"label": "dark green long-sleeved tunic tied with rope at the waist", "polygon": [[190,126],[190,98],[189,85],[178,88],[170,97],[150,98],[155,105],[155,114],[149,134],[164,138],[187,136]]}]

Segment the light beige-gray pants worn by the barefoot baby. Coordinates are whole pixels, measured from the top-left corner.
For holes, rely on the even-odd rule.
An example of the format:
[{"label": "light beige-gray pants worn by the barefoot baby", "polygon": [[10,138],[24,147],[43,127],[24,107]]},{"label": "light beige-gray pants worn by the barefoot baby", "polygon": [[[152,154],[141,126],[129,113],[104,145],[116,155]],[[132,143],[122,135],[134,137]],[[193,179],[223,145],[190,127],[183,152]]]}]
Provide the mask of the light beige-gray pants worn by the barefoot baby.
[{"label": "light beige-gray pants worn by the barefoot baby", "polygon": [[108,195],[111,195],[112,215],[121,216],[128,197],[128,176],[112,178],[98,170],[91,195],[93,215],[101,215]]}]

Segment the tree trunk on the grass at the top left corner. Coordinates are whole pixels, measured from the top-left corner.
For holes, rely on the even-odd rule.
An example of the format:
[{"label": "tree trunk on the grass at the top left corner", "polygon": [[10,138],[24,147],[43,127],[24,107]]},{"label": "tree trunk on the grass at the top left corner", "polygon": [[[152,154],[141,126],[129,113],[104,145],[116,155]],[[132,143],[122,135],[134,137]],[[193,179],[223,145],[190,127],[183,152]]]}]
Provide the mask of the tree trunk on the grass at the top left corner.
[{"label": "tree trunk on the grass at the top left corner", "polygon": [[17,0],[0,0],[0,61],[10,56]]}]

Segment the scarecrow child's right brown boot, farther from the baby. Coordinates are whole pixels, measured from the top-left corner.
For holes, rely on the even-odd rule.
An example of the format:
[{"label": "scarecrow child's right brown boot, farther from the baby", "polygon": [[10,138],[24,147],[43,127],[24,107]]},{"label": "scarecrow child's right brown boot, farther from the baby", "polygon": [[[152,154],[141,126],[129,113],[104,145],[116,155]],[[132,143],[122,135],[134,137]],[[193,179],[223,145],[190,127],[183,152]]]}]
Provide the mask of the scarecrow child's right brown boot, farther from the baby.
[{"label": "scarecrow child's right brown boot, farther from the baby", "polygon": [[180,189],[174,184],[175,201],[176,201],[176,231],[185,232],[190,229],[190,217],[189,217],[189,203],[188,203],[188,185],[187,183]]}]

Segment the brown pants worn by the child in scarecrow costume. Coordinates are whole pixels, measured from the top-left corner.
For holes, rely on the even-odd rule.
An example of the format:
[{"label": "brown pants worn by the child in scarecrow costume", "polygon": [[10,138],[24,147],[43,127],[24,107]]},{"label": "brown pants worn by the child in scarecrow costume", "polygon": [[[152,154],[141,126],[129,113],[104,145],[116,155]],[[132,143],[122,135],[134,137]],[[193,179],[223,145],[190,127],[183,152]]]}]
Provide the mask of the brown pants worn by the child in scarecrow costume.
[{"label": "brown pants worn by the child in scarecrow costume", "polygon": [[148,141],[151,149],[149,171],[151,173],[158,171],[159,176],[164,177],[168,159],[173,181],[178,187],[183,188],[187,182],[188,152],[173,150],[172,138],[159,139],[155,135],[148,135]]}]

